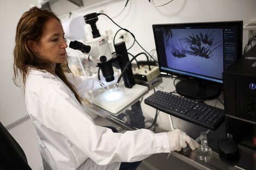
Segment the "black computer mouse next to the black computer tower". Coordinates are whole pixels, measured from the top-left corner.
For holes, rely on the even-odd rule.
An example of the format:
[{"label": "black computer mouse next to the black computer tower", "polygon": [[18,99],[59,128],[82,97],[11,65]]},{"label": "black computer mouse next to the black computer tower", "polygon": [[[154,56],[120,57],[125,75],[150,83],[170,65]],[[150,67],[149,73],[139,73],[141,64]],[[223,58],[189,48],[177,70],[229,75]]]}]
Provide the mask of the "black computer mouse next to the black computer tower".
[{"label": "black computer mouse next to the black computer tower", "polygon": [[239,148],[236,141],[229,138],[221,138],[218,140],[218,155],[223,162],[229,165],[235,165],[239,162]]}]

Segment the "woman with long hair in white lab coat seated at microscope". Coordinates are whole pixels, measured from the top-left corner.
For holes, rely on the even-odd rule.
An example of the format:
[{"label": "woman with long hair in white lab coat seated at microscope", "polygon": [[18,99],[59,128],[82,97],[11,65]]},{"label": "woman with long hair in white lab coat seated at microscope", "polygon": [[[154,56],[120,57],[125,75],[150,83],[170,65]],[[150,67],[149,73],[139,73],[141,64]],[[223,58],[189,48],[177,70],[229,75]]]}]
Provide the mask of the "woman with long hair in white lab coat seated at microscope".
[{"label": "woman with long hair in white lab coat seated at microscope", "polygon": [[[66,76],[68,46],[62,24],[52,12],[36,7],[26,11],[17,24],[15,42],[14,82],[23,82],[45,169],[114,170],[130,165],[136,169],[139,163],[121,162],[180,150],[186,143],[192,149],[198,147],[180,130],[154,134],[139,129],[121,134],[95,125],[81,106],[74,78]],[[94,79],[87,81],[92,89]]]}]

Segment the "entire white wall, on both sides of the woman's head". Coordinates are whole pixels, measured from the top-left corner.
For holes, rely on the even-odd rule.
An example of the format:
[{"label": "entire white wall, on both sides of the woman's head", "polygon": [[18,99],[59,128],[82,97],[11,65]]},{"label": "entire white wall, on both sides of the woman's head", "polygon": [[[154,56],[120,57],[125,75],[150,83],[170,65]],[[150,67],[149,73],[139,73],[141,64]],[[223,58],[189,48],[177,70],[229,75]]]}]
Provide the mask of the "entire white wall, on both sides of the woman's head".
[{"label": "entire white wall, on both sides of the woman's head", "polygon": [[[156,2],[164,3],[169,0],[159,0]],[[0,2],[0,71],[1,71],[1,104],[0,121],[4,125],[9,125],[27,115],[25,102],[22,92],[14,86],[11,80],[13,76],[13,47],[16,24],[22,15],[29,8],[29,4],[35,0],[9,0]],[[90,12],[100,12],[103,10],[109,16],[119,14],[123,9],[126,0],[105,1],[106,4],[96,5],[88,8],[93,3],[101,3],[103,0],[84,0],[87,8],[82,10],[66,0],[59,0],[51,5],[51,8],[63,20],[67,18],[68,12],[75,15],[86,15]],[[79,9],[79,10],[78,10]],[[141,45],[147,50],[155,48],[152,24],[155,23],[177,23],[177,22],[203,22],[203,21],[225,21],[243,20],[244,24],[252,18],[256,18],[255,0],[174,0],[172,3],[160,8],[155,8],[148,1],[130,0],[125,11],[114,21],[121,27],[129,29]],[[117,26],[109,21],[105,16],[99,16],[97,26],[101,34],[105,30],[118,30]],[[244,32],[244,44],[247,41],[248,33]],[[130,37],[130,40],[132,38]],[[130,47],[132,41],[126,44]],[[137,54],[142,52],[137,45],[130,53]],[[142,56],[142,59],[144,57]]]}]

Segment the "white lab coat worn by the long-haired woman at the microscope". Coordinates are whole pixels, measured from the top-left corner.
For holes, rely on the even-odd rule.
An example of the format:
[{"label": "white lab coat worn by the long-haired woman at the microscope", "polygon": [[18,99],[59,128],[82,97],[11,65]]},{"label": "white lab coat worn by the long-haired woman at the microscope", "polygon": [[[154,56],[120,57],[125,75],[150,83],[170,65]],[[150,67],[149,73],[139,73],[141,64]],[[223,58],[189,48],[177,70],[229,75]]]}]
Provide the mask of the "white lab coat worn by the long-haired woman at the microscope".
[{"label": "white lab coat worn by the long-haired woman at the microscope", "polygon": [[[88,90],[97,84],[94,78],[86,81]],[[167,133],[140,129],[122,134],[95,125],[74,93],[51,73],[32,69],[25,98],[45,170],[115,170],[120,162],[170,152]]]}]

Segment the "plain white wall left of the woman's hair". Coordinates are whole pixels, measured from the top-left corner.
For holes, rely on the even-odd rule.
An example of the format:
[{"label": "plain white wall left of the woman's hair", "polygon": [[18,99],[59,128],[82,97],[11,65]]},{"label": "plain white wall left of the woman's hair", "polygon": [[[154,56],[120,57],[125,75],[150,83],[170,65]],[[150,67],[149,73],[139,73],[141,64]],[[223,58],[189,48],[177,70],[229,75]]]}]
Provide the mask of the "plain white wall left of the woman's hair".
[{"label": "plain white wall left of the woman's hair", "polygon": [[19,18],[33,0],[0,2],[0,121],[9,125],[27,115],[22,91],[13,83],[13,48]]}]

